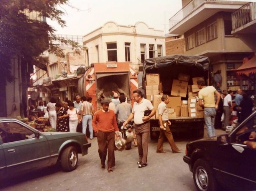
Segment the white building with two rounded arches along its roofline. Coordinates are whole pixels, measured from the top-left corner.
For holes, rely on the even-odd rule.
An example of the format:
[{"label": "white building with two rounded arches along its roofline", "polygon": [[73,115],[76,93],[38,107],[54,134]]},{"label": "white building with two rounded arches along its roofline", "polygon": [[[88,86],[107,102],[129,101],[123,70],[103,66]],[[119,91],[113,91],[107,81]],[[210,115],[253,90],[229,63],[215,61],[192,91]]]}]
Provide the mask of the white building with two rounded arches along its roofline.
[{"label": "white building with two rounded arches along its roofline", "polygon": [[97,62],[143,63],[144,59],[165,56],[164,31],[143,22],[134,26],[112,21],[83,36],[86,65]]}]

